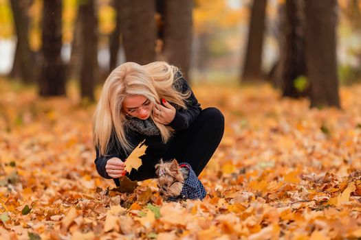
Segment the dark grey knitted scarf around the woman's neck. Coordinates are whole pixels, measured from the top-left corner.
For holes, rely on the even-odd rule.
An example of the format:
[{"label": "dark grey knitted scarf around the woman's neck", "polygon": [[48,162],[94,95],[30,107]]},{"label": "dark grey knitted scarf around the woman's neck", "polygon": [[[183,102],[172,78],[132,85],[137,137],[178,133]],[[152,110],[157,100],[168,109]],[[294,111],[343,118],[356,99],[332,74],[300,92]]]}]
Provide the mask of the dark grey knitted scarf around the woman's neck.
[{"label": "dark grey knitted scarf around the woman's neck", "polygon": [[151,117],[146,120],[138,119],[137,117],[127,117],[127,127],[132,131],[146,136],[160,134],[160,130],[157,128],[157,125],[155,125]]}]

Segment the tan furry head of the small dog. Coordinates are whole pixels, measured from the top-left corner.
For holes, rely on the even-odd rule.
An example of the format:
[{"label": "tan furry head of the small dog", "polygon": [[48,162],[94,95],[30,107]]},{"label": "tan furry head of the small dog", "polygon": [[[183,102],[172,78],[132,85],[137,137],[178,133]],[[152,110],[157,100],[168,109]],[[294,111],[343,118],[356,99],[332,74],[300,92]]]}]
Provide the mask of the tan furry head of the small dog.
[{"label": "tan furry head of the small dog", "polygon": [[166,197],[179,196],[183,183],[184,177],[182,171],[179,168],[177,160],[170,162],[163,162],[155,165],[155,173],[157,174],[157,186],[160,189],[160,194]]}]

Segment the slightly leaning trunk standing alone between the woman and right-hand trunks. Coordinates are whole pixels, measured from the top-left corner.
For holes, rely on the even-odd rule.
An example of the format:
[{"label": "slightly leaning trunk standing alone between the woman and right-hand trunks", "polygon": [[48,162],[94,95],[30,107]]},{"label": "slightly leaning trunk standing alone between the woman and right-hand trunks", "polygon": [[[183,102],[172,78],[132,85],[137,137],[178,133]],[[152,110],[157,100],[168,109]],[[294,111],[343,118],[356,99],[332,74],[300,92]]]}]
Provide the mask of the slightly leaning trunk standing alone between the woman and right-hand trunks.
[{"label": "slightly leaning trunk standing alone between the woman and right-hand trunks", "polygon": [[267,0],[254,0],[248,32],[248,45],[245,53],[242,81],[253,82],[263,78],[261,58],[263,35],[265,32],[265,8]]}]

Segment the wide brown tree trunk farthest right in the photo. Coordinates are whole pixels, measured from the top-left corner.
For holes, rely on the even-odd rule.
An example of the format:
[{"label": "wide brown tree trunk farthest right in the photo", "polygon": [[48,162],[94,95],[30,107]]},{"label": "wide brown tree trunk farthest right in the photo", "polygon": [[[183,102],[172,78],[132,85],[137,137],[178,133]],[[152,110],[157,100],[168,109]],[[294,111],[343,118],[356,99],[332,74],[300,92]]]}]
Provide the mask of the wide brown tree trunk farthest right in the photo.
[{"label": "wide brown tree trunk farthest right in the photo", "polygon": [[336,62],[336,0],[305,0],[307,77],[311,107],[340,108]]}]

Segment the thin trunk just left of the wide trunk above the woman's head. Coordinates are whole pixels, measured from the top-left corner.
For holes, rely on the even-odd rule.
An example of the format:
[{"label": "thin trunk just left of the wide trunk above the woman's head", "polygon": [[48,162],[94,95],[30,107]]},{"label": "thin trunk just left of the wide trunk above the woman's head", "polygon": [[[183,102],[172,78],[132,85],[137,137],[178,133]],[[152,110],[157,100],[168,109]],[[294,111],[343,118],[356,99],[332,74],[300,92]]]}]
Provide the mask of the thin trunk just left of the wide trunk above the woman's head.
[{"label": "thin trunk just left of the wide trunk above the woman's head", "polygon": [[110,62],[109,62],[109,72],[113,71],[118,65],[118,53],[120,49],[120,1],[113,0],[113,7],[116,10],[116,29],[111,33],[109,39],[109,51],[110,51]]}]

